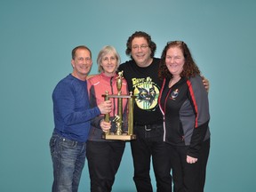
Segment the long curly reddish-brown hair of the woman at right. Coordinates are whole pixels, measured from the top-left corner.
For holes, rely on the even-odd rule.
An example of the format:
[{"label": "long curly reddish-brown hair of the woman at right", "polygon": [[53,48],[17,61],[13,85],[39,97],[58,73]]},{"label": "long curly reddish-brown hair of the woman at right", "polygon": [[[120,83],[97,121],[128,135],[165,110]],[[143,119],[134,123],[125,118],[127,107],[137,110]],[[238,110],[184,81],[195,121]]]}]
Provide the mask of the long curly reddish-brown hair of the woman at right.
[{"label": "long curly reddish-brown hair of the woman at right", "polygon": [[161,80],[163,80],[165,77],[172,78],[172,74],[169,72],[169,70],[165,64],[166,52],[171,47],[180,48],[180,50],[181,50],[181,52],[183,52],[183,55],[185,58],[183,71],[181,72],[180,76],[187,77],[187,78],[190,76],[196,76],[196,75],[200,76],[201,72],[200,72],[199,68],[197,67],[196,62],[193,60],[187,44],[185,44],[182,41],[172,41],[172,42],[168,42],[165,45],[164,50],[162,52],[162,56],[161,56],[161,60],[160,60],[160,64],[159,64],[159,70],[158,70],[158,77]]}]

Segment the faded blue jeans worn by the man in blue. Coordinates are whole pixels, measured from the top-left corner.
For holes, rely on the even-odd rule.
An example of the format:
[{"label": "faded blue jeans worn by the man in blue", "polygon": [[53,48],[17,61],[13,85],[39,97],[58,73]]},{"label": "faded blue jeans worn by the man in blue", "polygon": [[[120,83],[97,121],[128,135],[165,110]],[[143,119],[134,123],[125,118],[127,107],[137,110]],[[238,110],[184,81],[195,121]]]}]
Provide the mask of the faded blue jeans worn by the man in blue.
[{"label": "faded blue jeans worn by the man in blue", "polygon": [[86,143],[53,133],[50,140],[53,164],[52,192],[77,192],[84,168]]}]

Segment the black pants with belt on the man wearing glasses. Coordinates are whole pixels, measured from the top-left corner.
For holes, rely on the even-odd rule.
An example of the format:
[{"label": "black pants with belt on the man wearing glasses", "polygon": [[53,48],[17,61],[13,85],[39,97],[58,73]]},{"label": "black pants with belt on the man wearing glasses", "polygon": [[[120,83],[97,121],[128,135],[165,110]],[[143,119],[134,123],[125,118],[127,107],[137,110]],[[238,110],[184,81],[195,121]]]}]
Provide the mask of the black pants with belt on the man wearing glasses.
[{"label": "black pants with belt on the man wearing glasses", "polygon": [[134,125],[134,133],[137,139],[131,141],[131,147],[134,166],[133,180],[137,191],[153,191],[149,175],[152,157],[157,192],[171,192],[171,162],[164,143],[163,125]]}]

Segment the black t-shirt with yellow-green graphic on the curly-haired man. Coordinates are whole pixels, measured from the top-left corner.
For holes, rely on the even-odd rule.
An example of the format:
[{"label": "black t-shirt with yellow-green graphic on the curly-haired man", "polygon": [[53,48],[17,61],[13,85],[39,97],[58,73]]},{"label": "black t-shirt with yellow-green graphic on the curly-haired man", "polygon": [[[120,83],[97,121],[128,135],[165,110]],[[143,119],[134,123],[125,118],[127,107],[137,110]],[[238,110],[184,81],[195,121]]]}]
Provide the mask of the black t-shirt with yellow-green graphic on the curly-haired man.
[{"label": "black t-shirt with yellow-green graphic on the curly-haired man", "polygon": [[159,61],[154,58],[147,68],[140,68],[134,60],[129,60],[118,68],[119,71],[124,71],[129,92],[137,97],[133,114],[135,124],[163,124],[163,115],[158,106],[162,85],[157,75]]}]

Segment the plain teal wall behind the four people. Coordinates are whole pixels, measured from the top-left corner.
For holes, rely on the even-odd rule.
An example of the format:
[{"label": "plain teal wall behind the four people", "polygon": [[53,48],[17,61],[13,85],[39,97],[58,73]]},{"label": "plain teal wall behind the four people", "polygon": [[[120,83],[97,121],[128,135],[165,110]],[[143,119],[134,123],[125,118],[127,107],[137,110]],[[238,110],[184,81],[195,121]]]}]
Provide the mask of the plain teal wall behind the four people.
[{"label": "plain teal wall behind the four people", "polygon": [[[72,70],[71,50],[91,48],[94,74],[103,45],[129,59],[125,44],[136,30],[152,36],[156,57],[167,41],[185,41],[210,80],[205,191],[254,191],[255,8],[253,0],[1,0],[0,191],[51,191],[51,97]],[[132,172],[127,143],[113,192],[135,191]],[[87,164],[79,191],[89,191]]]}]

